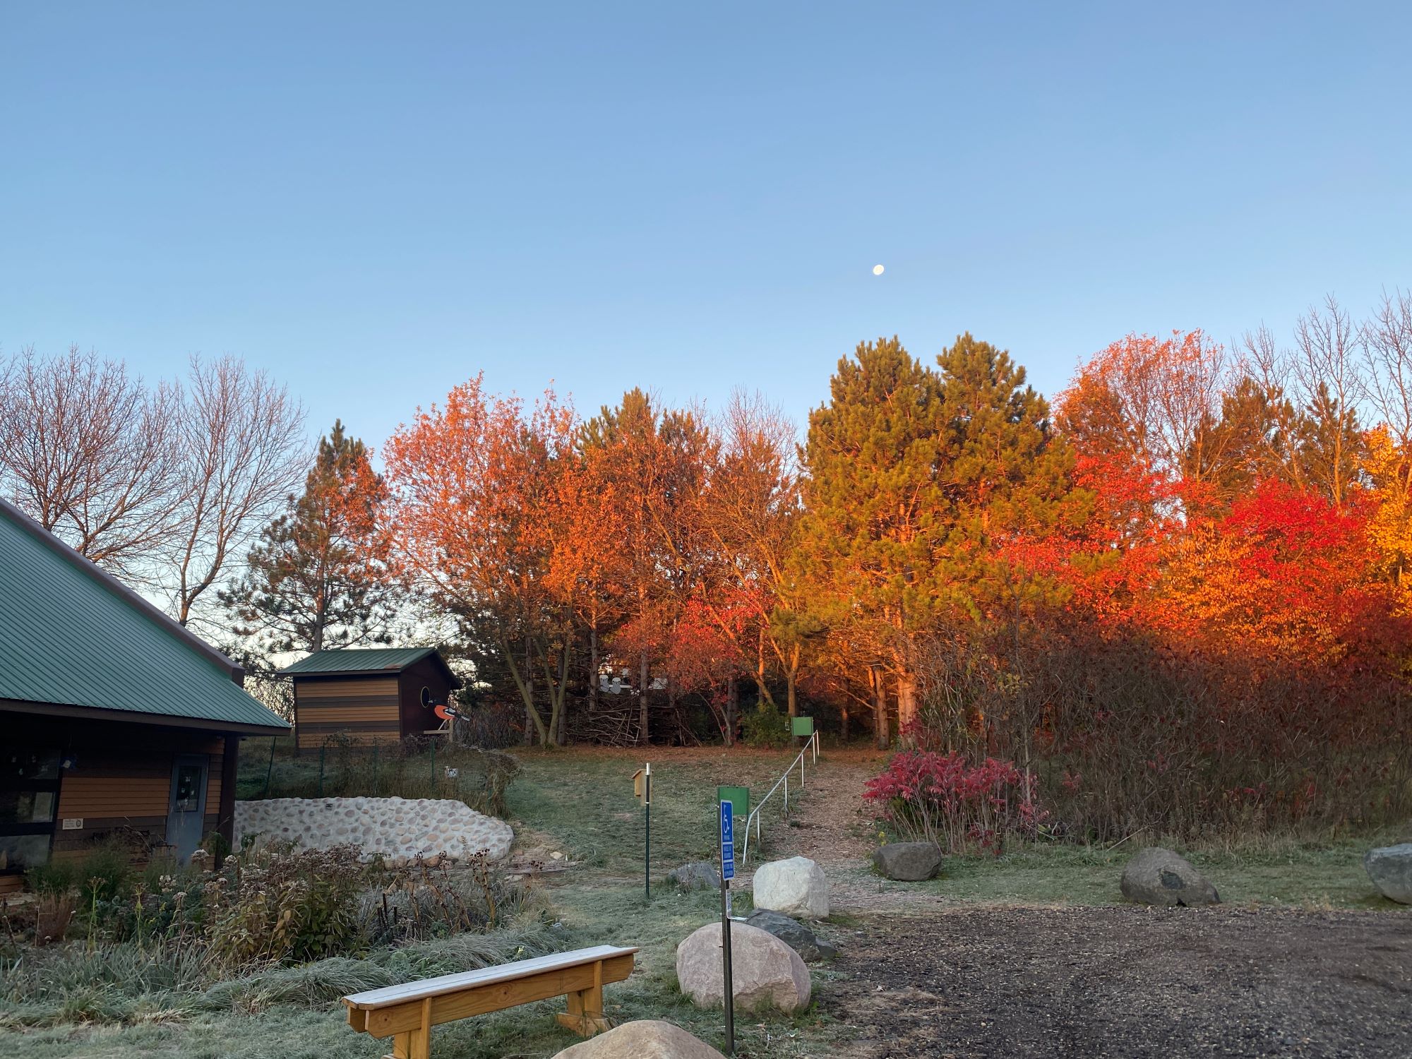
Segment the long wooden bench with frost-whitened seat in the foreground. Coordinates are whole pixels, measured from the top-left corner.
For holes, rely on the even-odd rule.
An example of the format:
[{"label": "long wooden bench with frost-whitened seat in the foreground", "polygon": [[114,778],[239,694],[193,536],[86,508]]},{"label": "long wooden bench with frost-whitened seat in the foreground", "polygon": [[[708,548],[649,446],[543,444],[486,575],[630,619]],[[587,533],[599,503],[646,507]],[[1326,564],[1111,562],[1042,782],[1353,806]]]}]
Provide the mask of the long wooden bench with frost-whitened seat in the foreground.
[{"label": "long wooden bench with frost-whitened seat in the foreground", "polygon": [[575,949],[354,993],[343,1003],[349,1005],[350,1027],[393,1038],[393,1053],[385,1059],[428,1059],[432,1027],[551,997],[569,998],[569,1010],[559,1015],[559,1022],[592,1036],[609,1028],[603,1017],[603,984],[631,974],[635,952],[611,945]]}]

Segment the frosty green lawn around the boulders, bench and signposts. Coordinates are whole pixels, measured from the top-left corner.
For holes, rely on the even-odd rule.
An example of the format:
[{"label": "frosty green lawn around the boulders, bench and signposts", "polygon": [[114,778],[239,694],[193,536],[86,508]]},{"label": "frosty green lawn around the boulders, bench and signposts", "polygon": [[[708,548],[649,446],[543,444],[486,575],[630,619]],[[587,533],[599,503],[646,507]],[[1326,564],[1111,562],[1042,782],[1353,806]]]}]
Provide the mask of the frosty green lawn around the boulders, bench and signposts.
[{"label": "frosty green lawn around the boulders, bench and signposts", "polygon": [[[261,744],[265,748],[260,753]],[[253,740],[243,757],[243,794],[258,792],[270,770],[268,744]],[[720,1046],[720,1012],[699,1011],[676,991],[675,946],[720,915],[714,892],[681,894],[665,884],[669,868],[710,860],[716,844],[714,791],[740,784],[760,796],[779,774],[789,751],[722,748],[652,748],[652,897],[642,892],[642,810],[631,777],[644,755],[594,748],[515,751],[520,775],[507,798],[507,818],[520,849],[565,854],[568,871],[546,874],[538,887],[537,923],[552,931],[556,947],[599,943],[637,945],[638,970],[606,991],[609,1015],[618,1021],[665,1018]],[[446,762],[445,751],[439,758]],[[857,791],[881,758],[871,751],[829,751],[809,786],[791,788],[792,819],[781,806],[765,812],[764,857],[789,856],[802,843],[837,837],[850,850],[830,864],[830,882],[849,909],[822,932],[847,947],[867,931],[867,914],[926,914],[928,908],[967,905],[1113,905],[1117,880],[1134,851],[1127,843],[1097,850],[1072,846],[1025,847],[1000,857],[947,858],[942,877],[925,884],[897,884],[867,867],[877,830]],[[330,762],[325,761],[328,772]],[[429,760],[402,762],[409,775],[433,774]],[[316,755],[291,758],[277,748],[273,792],[318,784]],[[832,777],[830,777],[832,770]],[[818,779],[816,779],[818,777]],[[830,784],[832,779],[832,784]],[[789,825],[795,826],[789,826]],[[832,832],[827,833],[826,832]],[[1396,840],[1398,834],[1381,836]],[[1363,873],[1370,843],[1300,846],[1262,842],[1245,850],[1189,850],[1190,858],[1220,888],[1227,904],[1243,907],[1398,909],[1377,897]],[[754,858],[753,858],[754,861]],[[754,863],[748,867],[754,867]],[[741,892],[737,909],[748,909]],[[522,925],[524,926],[524,925]],[[737,1022],[737,1052],[746,1056],[827,1056],[850,1053],[857,1031],[830,1014],[830,983],[844,971],[813,966],[815,1003],[796,1018],[748,1017]],[[842,986],[842,983],[840,983]],[[330,994],[332,995],[332,994]],[[433,1049],[442,1059],[525,1059],[551,1056],[576,1038],[559,1028],[545,1001],[438,1028]],[[0,1017],[3,1018],[3,1017]],[[0,1035],[6,1052],[34,1059],[138,1055],[181,1056],[380,1056],[385,1043],[354,1034],[343,1022],[336,997],[316,1003],[236,1004],[225,1011],[164,1010],[160,1004],[121,1025],[59,1025],[10,1029]]]}]

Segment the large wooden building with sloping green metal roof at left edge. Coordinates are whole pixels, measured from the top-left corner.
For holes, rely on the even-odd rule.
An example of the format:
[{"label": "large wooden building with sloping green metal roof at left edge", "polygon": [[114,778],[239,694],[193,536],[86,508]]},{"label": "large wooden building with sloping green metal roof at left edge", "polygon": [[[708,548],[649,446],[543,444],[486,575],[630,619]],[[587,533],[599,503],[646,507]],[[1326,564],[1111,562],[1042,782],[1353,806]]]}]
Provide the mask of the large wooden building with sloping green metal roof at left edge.
[{"label": "large wooden building with sloping green metal roof at left edge", "polygon": [[121,834],[229,842],[241,736],[289,726],[244,671],[0,500],[0,892]]}]

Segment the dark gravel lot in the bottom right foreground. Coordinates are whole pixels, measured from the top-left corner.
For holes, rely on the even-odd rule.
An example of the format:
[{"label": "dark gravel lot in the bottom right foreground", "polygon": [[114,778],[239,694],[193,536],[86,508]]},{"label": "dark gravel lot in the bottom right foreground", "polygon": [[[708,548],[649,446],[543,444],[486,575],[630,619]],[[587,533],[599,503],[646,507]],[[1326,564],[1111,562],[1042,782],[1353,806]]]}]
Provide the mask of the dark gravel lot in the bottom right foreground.
[{"label": "dark gravel lot in the bottom right foreground", "polygon": [[1412,916],[939,909],[840,935],[857,1055],[1412,1056]]}]

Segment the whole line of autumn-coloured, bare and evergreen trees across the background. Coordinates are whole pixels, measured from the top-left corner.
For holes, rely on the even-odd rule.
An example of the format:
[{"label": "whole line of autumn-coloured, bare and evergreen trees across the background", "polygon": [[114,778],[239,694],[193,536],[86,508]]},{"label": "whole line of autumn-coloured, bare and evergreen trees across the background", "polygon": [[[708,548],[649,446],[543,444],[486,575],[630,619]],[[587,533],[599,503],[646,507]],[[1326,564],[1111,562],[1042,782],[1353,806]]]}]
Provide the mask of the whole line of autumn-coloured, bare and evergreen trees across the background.
[{"label": "whole line of autumn-coloured, bare and evergreen trees across the background", "polygon": [[[878,339],[802,439],[746,393],[712,415],[634,388],[583,417],[476,376],[381,470],[340,424],[311,466],[295,405],[234,361],[193,361],[182,394],[75,353],[4,378],[6,489],[80,551],[127,575],[161,556],[182,617],[217,586],[265,652],[387,640],[411,607],[542,744],[606,709],[611,671],[640,740],[669,734],[654,705],[727,743],[806,707],[878,746],[1046,761],[1076,799],[1117,754],[1193,819],[1293,812],[1351,746],[1405,748],[1408,295],[1230,347],[1130,335],[1053,407],[970,335],[929,363]],[[216,438],[240,439],[230,470]],[[1384,764],[1356,799],[1387,794]],[[1128,799],[1152,791],[1099,798],[1104,827]]]}]

